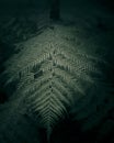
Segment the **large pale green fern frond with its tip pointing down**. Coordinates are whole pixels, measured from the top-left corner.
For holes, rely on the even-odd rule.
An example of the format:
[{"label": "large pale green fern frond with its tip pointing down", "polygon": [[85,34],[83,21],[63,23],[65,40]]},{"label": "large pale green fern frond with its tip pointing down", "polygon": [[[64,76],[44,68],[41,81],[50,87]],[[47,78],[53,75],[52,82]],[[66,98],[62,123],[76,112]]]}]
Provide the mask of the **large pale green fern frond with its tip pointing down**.
[{"label": "large pale green fern frond with its tip pointing down", "polygon": [[38,47],[31,48],[33,44],[25,43],[22,51],[25,55],[8,62],[4,75],[9,76],[5,86],[18,81],[14,97],[24,97],[27,109],[31,109],[27,113],[35,114],[36,121],[46,128],[49,140],[55,124],[68,116],[73,102],[86,96],[90,85],[96,82],[95,77],[102,75],[99,64],[105,63],[78,52],[73,46],[70,50],[67,41],[60,40],[57,44],[52,37],[52,42],[50,38],[44,42],[47,36],[48,32],[38,40],[33,38]]}]

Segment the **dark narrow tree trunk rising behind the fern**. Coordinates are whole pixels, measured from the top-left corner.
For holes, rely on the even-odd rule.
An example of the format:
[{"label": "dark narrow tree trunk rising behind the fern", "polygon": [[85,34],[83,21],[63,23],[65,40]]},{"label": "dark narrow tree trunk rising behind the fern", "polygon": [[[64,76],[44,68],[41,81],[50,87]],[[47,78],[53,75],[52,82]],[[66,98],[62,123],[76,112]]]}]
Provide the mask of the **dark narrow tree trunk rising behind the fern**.
[{"label": "dark narrow tree trunk rising behind the fern", "polygon": [[52,20],[60,19],[60,0],[50,0],[50,13]]}]

